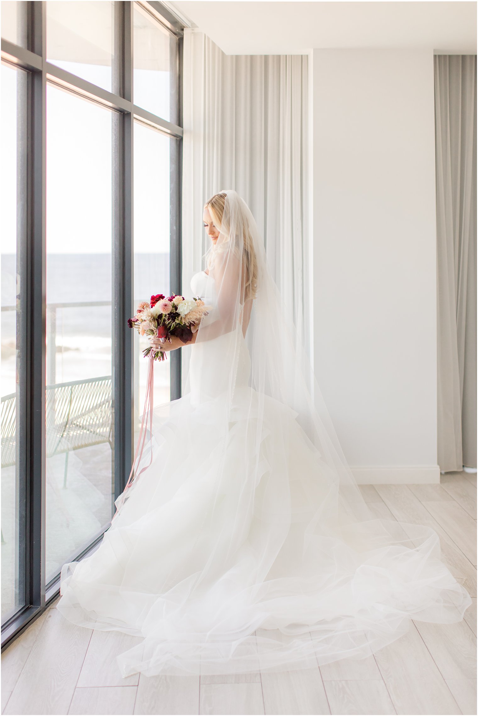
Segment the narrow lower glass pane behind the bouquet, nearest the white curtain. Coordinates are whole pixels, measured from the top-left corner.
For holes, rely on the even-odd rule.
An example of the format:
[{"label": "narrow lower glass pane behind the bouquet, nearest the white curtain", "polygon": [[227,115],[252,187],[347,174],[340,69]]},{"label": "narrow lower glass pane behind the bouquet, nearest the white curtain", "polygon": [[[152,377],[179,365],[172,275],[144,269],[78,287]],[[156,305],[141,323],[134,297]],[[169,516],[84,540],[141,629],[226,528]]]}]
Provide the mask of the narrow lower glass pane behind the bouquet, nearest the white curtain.
[{"label": "narrow lower glass pane behind the bouquet, nearest the white curtain", "polygon": [[[134,306],[152,294],[177,291],[170,286],[170,138],[135,122],[135,283]],[[135,337],[135,446],[145,405],[149,343]],[[155,363],[154,404],[170,400],[170,359]]]}]

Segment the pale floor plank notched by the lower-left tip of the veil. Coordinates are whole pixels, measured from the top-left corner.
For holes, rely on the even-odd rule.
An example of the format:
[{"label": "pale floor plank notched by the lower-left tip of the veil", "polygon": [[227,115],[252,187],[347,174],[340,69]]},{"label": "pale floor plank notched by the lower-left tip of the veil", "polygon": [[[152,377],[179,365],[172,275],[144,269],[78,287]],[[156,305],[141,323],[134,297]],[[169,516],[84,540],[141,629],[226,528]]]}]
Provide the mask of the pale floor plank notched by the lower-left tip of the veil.
[{"label": "pale floor plank notched by the lower-left tip of the veil", "polygon": [[142,637],[94,629],[77,687],[137,686],[140,674],[122,677],[116,657],[141,642]]}]

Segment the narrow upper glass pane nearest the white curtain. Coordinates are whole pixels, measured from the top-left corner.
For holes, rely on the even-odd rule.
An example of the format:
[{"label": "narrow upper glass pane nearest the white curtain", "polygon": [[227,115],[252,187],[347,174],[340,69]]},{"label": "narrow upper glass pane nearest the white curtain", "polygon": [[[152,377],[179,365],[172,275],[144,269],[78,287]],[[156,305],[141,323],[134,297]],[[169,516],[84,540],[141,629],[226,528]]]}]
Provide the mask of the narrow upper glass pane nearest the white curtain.
[{"label": "narrow upper glass pane nearest the white curtain", "polygon": [[177,123],[177,39],[136,4],[133,21],[135,105]]}]

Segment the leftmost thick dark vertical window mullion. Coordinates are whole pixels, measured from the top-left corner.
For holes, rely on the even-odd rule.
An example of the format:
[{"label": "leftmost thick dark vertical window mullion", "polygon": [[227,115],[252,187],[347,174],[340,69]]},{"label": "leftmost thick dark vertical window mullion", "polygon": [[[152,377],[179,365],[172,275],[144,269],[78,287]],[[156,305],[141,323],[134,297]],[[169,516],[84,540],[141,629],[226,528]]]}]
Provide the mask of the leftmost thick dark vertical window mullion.
[{"label": "leftmost thick dark vertical window mullion", "polygon": [[[46,58],[46,3],[31,3],[32,51]],[[27,600],[45,605],[46,575],[46,147],[47,74],[32,72],[29,96],[29,269],[26,325]]]}]

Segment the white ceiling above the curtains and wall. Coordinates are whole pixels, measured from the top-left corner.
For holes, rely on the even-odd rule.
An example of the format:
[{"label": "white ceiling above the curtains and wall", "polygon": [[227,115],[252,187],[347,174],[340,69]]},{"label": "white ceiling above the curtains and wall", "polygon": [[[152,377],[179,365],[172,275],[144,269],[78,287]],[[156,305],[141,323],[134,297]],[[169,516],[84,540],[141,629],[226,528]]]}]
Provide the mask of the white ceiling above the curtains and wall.
[{"label": "white ceiling above the curtains and wall", "polygon": [[477,52],[474,1],[175,0],[165,4],[208,34],[225,54],[302,54],[334,47]]}]

